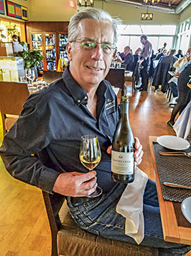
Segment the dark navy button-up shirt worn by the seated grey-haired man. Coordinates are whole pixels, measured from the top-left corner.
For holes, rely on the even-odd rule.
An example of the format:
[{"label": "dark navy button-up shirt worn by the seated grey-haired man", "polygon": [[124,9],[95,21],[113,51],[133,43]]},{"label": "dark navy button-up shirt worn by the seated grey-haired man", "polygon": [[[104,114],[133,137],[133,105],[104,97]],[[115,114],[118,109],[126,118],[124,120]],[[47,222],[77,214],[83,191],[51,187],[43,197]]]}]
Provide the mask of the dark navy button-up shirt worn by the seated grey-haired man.
[{"label": "dark navy button-up shirt worn by the seated grey-haired man", "polygon": [[102,154],[95,169],[98,185],[104,192],[110,190],[114,182],[107,148],[119,120],[118,100],[106,80],[96,94],[97,118],[87,109],[87,92],[67,69],[47,89],[30,95],[0,148],[8,172],[51,193],[60,173],[88,171],[79,161],[80,140],[84,134],[95,134]]}]

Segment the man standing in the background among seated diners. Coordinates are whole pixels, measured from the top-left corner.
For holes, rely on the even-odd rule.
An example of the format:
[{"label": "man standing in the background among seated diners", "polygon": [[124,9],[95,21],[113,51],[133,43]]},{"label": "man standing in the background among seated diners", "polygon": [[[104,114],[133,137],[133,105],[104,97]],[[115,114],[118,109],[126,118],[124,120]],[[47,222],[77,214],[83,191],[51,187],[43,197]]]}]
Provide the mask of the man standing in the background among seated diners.
[{"label": "man standing in the background among seated diners", "polygon": [[151,56],[152,56],[152,44],[147,40],[146,35],[142,35],[140,37],[141,43],[144,45],[143,50],[140,53],[139,64],[143,66],[143,69],[140,71],[140,76],[142,78],[142,86],[138,90],[147,91],[148,89],[148,77],[149,77],[149,68],[151,64]]}]

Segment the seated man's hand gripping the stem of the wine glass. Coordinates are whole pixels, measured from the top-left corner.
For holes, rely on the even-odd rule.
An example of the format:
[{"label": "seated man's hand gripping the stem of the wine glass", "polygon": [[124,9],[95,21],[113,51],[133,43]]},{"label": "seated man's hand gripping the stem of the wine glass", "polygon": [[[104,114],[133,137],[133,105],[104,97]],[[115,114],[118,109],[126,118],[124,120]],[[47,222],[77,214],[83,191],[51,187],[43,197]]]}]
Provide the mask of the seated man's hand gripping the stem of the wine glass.
[{"label": "seated man's hand gripping the stem of the wine glass", "polygon": [[61,173],[57,177],[53,191],[64,196],[90,196],[96,187],[96,172],[89,173]]}]

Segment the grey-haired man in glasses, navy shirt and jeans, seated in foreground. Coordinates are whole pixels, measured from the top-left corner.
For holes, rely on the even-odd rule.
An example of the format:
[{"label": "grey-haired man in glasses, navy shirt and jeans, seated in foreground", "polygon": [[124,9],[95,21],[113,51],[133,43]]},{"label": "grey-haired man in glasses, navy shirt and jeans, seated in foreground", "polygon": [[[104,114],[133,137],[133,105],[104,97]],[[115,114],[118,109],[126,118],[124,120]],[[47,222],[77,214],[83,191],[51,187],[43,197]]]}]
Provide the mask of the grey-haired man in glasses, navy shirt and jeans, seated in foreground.
[{"label": "grey-haired man in glasses, navy shirt and jeans, seated in foreground", "polygon": [[[117,23],[104,10],[93,8],[76,13],[68,26],[70,66],[60,80],[26,100],[21,116],[4,137],[0,153],[16,179],[65,195],[71,215],[82,229],[134,243],[124,233],[125,218],[115,210],[126,184],[116,184],[110,177],[110,145],[119,109],[115,92],[104,77],[116,42]],[[96,173],[87,172],[79,161],[84,134],[97,135],[101,145]],[[143,151],[138,139],[135,148],[135,164],[139,165]],[[95,191],[97,183],[103,194],[85,197]],[[156,186],[151,180],[144,200],[142,244],[159,247],[160,255],[187,252],[189,247],[163,240]]]}]

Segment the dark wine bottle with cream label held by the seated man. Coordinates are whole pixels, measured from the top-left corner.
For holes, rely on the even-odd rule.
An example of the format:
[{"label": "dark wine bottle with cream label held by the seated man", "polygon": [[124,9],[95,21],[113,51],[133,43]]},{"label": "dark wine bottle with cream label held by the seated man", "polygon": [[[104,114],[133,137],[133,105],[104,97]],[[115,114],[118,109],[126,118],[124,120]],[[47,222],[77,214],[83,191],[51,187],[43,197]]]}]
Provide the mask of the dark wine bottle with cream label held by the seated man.
[{"label": "dark wine bottle with cream label held by the seated man", "polygon": [[112,179],[119,183],[134,181],[134,135],[129,123],[129,97],[121,97],[121,114],[112,140]]}]

